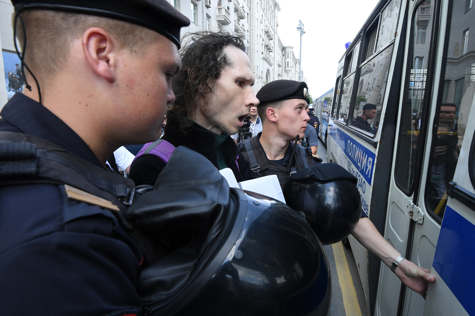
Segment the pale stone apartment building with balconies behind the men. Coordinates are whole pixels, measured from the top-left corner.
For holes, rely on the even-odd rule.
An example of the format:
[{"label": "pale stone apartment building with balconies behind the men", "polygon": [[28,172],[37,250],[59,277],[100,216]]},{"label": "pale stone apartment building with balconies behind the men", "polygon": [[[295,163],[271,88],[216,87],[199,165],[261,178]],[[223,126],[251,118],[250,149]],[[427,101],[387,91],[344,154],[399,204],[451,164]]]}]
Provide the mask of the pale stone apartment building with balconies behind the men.
[{"label": "pale stone apartment building with balconies behind the men", "polygon": [[[277,34],[277,13],[281,9],[276,0],[167,1],[190,18],[190,26],[182,29],[182,36],[187,32],[223,30],[243,39],[256,76],[255,92],[270,81],[298,80],[298,59],[293,47],[283,45]],[[17,72],[16,64],[21,64],[15,53],[13,13],[11,1],[0,0],[0,68],[4,72],[0,78],[0,109],[17,91],[24,89],[24,86],[17,90],[11,87],[11,74]]]}]

